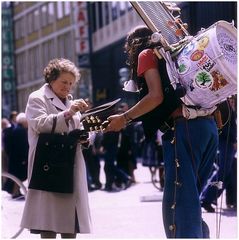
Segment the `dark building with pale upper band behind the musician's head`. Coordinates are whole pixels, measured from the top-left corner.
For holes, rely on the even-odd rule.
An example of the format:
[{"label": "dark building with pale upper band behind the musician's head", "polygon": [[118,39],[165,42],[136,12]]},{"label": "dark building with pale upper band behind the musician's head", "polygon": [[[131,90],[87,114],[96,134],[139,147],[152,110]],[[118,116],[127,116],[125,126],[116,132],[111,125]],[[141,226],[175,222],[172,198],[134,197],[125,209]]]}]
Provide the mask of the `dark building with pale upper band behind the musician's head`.
[{"label": "dark building with pale upper band behind the musician's head", "polygon": [[[177,2],[177,5],[181,8],[183,22],[188,24],[188,31],[193,36],[201,28],[208,28],[219,20],[234,20],[237,24],[235,1]],[[128,2],[94,2],[90,7],[90,16],[94,101],[99,104],[121,97],[123,101],[134,103],[137,96],[122,90],[119,70],[127,68],[123,50],[127,32],[144,22]]]}]

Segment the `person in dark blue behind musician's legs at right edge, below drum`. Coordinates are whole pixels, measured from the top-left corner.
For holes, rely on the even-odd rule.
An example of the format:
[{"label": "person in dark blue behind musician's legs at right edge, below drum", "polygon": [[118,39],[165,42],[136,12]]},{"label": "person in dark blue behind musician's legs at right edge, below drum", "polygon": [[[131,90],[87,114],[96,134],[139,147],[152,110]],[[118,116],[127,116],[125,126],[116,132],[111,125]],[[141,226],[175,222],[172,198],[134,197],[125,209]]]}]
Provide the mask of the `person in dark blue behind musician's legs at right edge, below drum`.
[{"label": "person in dark blue behind musician's legs at right edge, below drum", "polygon": [[[219,105],[222,121],[225,126],[219,134],[219,153],[217,173],[211,178],[210,183],[204,189],[201,196],[201,206],[207,212],[215,212],[212,204],[217,205],[217,199],[227,188],[233,173],[233,163],[237,151],[237,124],[236,113],[232,104],[233,100],[225,101]],[[220,184],[222,183],[222,186]]]}]

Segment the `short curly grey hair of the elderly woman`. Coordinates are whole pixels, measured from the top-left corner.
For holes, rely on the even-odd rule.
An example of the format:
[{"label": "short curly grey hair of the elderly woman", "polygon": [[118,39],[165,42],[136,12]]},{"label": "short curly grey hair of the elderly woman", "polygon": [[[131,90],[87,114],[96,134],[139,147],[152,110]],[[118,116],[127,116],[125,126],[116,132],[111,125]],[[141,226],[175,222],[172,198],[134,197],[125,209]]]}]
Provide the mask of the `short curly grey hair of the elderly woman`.
[{"label": "short curly grey hair of the elderly woman", "polygon": [[62,72],[71,73],[75,76],[75,81],[80,79],[80,72],[76,65],[65,58],[55,58],[50,60],[43,71],[45,81],[50,83],[56,80]]}]

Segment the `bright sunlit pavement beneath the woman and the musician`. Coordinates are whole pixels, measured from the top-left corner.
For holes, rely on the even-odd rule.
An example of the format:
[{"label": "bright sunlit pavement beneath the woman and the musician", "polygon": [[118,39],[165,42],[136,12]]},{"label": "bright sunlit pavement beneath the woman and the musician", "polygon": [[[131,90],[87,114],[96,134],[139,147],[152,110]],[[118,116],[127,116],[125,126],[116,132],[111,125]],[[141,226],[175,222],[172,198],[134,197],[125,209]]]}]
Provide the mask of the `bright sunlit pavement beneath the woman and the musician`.
[{"label": "bright sunlit pavement beneath the woman and the musician", "polygon": [[[103,170],[102,170],[103,171]],[[89,193],[92,234],[78,234],[81,239],[165,239],[162,222],[162,196],[150,182],[148,168],[138,164],[135,170],[137,183],[120,192],[97,190]],[[104,174],[101,181],[104,183]],[[236,211],[227,210],[225,196],[218,199],[221,211],[207,213],[203,218],[209,225],[210,237],[213,239],[237,239],[238,222]],[[24,201],[12,200],[2,192],[2,231],[1,239],[9,238],[18,228]],[[28,230],[18,236],[22,239],[37,239],[39,235],[30,234]],[[58,236],[57,238],[60,238]]]}]

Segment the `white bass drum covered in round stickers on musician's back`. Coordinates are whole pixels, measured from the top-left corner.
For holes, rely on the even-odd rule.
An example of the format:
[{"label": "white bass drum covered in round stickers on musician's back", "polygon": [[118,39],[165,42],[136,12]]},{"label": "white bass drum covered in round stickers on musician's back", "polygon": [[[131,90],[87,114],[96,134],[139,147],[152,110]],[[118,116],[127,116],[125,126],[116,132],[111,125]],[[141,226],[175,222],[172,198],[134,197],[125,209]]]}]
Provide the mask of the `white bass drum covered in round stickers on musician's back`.
[{"label": "white bass drum covered in round stickers on musician's back", "polygon": [[187,105],[211,108],[237,93],[237,30],[218,21],[185,45],[174,61]]}]

